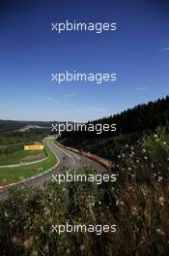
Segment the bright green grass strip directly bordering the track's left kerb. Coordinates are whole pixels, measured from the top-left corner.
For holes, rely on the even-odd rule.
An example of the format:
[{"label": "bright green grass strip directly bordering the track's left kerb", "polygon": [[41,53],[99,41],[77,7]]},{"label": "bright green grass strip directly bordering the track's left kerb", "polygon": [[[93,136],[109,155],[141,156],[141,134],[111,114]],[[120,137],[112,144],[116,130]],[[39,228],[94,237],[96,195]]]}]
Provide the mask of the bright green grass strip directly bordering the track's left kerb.
[{"label": "bright green grass strip directly bordering the track's left kerb", "polygon": [[37,176],[53,167],[56,164],[57,159],[46,144],[45,150],[47,159],[40,163],[22,167],[0,169],[0,185],[6,185],[31,176]]}]

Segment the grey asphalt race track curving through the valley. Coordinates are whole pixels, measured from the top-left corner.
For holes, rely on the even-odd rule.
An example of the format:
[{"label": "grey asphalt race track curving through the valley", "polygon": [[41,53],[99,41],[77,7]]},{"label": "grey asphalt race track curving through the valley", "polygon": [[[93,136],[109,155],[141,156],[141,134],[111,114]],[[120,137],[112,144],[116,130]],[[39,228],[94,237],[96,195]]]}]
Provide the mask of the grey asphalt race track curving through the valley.
[{"label": "grey asphalt race track curving through the valley", "polygon": [[55,144],[52,140],[47,140],[46,144],[59,160],[57,167],[42,176],[37,176],[34,179],[26,180],[24,183],[0,188],[0,200],[7,198],[10,189],[15,186],[42,186],[45,182],[50,182],[52,180],[52,175],[62,173],[62,170],[65,168],[70,168],[70,170],[76,172],[83,172],[85,166],[92,166],[99,174],[106,171],[106,169],[99,163],[85,156],[71,152],[60,145]]}]

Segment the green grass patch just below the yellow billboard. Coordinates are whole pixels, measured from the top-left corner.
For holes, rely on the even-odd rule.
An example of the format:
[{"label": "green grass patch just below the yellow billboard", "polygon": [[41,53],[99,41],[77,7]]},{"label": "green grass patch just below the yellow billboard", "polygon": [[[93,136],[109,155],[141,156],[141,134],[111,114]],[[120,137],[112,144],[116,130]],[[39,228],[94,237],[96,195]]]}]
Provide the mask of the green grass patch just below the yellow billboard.
[{"label": "green grass patch just below the yellow billboard", "polygon": [[0,165],[14,165],[19,163],[28,163],[44,158],[46,155],[43,150],[18,150],[9,155],[0,156]]}]

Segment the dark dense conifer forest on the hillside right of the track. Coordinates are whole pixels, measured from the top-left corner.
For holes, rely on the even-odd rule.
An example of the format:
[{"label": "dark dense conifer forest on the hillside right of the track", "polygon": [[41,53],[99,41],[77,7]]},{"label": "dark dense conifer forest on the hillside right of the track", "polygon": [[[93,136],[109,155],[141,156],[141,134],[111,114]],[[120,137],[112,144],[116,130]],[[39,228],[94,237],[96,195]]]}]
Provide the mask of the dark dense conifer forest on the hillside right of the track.
[{"label": "dark dense conifer forest on the hillside right of the track", "polygon": [[157,126],[164,126],[168,122],[169,96],[92,122],[116,123],[116,132],[103,132],[100,135],[93,132],[64,132],[59,141],[111,160],[112,156],[114,159],[120,153],[123,145],[134,144],[145,133],[149,134]]}]

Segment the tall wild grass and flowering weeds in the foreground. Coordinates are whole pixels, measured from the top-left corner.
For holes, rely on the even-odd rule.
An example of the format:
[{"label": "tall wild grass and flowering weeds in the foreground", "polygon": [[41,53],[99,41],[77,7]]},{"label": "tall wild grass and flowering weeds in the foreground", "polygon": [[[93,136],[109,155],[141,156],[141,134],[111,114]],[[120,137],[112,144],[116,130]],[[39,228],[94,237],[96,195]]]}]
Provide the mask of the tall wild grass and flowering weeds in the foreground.
[{"label": "tall wild grass and flowering weeds in the foreground", "polygon": [[[0,203],[2,255],[167,255],[169,131],[118,155],[115,183],[63,182],[12,191]],[[88,168],[86,174],[93,173]],[[52,225],[117,225],[117,232],[52,233]]]}]

